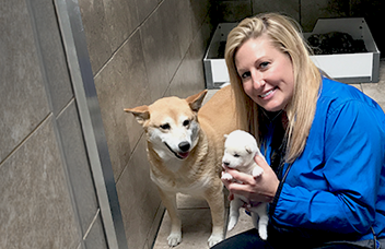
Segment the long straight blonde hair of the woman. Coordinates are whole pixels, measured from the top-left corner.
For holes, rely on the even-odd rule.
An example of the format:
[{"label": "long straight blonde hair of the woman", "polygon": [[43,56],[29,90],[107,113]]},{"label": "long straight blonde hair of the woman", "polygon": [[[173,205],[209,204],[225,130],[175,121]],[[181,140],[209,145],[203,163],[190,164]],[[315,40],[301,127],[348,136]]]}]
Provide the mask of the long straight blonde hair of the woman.
[{"label": "long straight blonde hair of the woman", "polygon": [[253,133],[258,144],[261,142],[259,132],[260,107],[249,98],[242,85],[234,57],[237,49],[248,39],[267,34],[272,45],[288,54],[293,64],[294,92],[288,106],[288,127],[285,128],[285,161],[292,163],[303,152],[310,129],[313,123],[322,75],[310,58],[311,49],[305,43],[300,25],[292,19],[266,13],[243,20],[228,36],[225,62],[230,82],[234,90],[238,121],[242,129]]}]

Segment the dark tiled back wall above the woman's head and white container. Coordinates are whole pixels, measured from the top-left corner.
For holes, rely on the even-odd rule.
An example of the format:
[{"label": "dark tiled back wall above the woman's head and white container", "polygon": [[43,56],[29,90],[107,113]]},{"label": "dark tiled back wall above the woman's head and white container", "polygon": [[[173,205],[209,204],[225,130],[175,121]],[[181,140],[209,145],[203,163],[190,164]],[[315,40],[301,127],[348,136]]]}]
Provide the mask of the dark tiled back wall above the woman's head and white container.
[{"label": "dark tiled back wall above the woman's head and white container", "polygon": [[217,5],[220,22],[236,22],[261,12],[282,12],[300,22],[305,32],[311,32],[319,17],[338,16],[365,17],[375,29],[385,11],[383,1],[372,0],[217,0]]}]

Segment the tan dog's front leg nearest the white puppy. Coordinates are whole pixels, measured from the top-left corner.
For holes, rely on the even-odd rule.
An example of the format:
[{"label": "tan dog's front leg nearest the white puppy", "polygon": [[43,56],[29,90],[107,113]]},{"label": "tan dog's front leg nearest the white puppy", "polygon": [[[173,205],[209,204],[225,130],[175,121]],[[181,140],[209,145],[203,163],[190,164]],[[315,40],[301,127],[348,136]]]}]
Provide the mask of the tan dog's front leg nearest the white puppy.
[{"label": "tan dog's front leg nearest the white puppy", "polygon": [[224,239],[224,195],[220,179],[214,187],[206,191],[206,201],[210,206],[212,233],[208,240],[209,247]]}]

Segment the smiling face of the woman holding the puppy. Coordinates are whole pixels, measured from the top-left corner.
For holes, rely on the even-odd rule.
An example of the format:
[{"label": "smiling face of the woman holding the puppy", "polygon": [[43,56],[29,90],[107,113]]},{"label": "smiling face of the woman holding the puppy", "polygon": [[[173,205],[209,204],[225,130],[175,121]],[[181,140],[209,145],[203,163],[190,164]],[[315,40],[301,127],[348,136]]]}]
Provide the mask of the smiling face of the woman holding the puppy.
[{"label": "smiling face of the woman holding the puppy", "polygon": [[294,93],[289,55],[273,47],[267,35],[246,40],[235,54],[245,93],[268,111],[284,109]]}]

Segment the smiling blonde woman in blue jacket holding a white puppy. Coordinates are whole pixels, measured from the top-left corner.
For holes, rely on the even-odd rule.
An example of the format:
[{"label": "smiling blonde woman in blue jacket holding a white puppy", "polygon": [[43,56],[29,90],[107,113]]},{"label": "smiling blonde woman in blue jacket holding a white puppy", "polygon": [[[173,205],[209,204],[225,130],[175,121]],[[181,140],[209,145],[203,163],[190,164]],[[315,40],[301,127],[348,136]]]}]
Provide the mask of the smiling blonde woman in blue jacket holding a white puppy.
[{"label": "smiling blonde woman in blue jacket holding a white puppy", "polygon": [[[385,238],[385,115],[357,88],[325,78],[299,25],[279,14],[246,19],[225,61],[241,127],[267,163],[254,179],[223,181],[255,205],[270,202],[267,241],[256,229],[214,248],[378,248]],[[245,204],[245,205],[246,205]],[[385,247],[385,245],[383,245]]]}]

